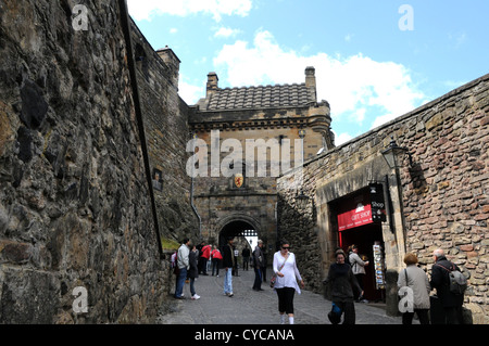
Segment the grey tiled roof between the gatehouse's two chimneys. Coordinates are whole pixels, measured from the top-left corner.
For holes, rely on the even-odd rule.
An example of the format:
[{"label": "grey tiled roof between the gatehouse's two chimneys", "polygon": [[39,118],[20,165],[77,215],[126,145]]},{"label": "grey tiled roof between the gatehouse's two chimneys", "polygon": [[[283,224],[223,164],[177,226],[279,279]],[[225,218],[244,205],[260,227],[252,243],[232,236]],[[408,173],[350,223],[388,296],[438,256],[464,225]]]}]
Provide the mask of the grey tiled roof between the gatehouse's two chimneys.
[{"label": "grey tiled roof between the gatehouse's two chimneys", "polygon": [[199,102],[203,111],[304,106],[315,102],[305,84],[217,89]]}]

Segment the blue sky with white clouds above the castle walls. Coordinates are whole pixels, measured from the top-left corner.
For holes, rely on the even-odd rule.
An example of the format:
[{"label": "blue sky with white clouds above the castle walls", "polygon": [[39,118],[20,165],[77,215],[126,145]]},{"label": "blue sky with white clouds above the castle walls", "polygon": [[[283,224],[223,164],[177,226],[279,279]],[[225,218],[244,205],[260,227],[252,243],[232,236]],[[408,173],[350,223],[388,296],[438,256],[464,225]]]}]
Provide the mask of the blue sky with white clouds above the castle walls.
[{"label": "blue sky with white clouds above the castle walls", "polygon": [[179,95],[300,84],[314,66],[340,145],[489,73],[487,0],[127,0],[153,49],[180,63]]}]

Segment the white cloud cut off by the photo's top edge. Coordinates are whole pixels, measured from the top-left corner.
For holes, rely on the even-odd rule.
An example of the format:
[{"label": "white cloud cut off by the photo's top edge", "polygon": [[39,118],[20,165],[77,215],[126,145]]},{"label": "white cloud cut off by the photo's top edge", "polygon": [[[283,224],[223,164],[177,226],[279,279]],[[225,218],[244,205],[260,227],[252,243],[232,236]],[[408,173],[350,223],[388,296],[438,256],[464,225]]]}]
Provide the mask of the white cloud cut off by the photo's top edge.
[{"label": "white cloud cut off by the photo's top edge", "polygon": [[220,22],[223,15],[247,16],[252,0],[127,0],[127,7],[136,21],[151,21],[161,13],[178,16],[204,13]]}]

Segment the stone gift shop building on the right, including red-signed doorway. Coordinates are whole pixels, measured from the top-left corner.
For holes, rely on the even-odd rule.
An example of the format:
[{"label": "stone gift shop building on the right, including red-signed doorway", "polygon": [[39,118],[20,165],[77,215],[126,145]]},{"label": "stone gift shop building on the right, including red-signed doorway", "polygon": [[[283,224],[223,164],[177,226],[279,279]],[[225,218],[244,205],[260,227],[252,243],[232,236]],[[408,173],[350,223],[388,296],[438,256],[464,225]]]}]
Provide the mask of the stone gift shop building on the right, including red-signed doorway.
[{"label": "stone gift shop building on the right, including red-signed doorway", "polygon": [[415,253],[429,273],[441,247],[468,278],[465,318],[487,324],[488,142],[486,75],[308,161],[308,198],[297,198],[293,174],[280,177],[278,232],[293,245],[309,287],[321,291],[335,251],[356,244],[371,261],[367,299],[385,299],[397,313],[404,255]]}]

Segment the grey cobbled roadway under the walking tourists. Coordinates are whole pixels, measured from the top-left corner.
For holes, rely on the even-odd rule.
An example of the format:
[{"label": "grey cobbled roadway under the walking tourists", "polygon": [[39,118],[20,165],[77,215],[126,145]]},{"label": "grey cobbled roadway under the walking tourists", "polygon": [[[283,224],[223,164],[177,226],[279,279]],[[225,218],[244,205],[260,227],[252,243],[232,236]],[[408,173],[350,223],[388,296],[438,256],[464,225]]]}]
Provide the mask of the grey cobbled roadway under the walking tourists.
[{"label": "grey cobbled roadway under the walking tourists", "polygon": [[[254,271],[239,271],[233,277],[234,297],[223,293],[223,278],[200,275],[196,280],[198,300],[190,299],[189,284],[185,284],[186,299],[174,299],[171,309],[174,312],[160,317],[162,324],[278,324],[277,294],[267,284],[264,291],[255,292],[251,287]],[[271,278],[268,272],[267,278]],[[327,312],[331,303],[319,294],[302,290],[294,296],[296,324],[330,324]],[[383,308],[366,304],[355,304],[356,324],[401,324],[400,317],[388,317]],[[415,321],[416,323],[416,321]]]}]

